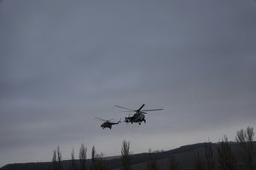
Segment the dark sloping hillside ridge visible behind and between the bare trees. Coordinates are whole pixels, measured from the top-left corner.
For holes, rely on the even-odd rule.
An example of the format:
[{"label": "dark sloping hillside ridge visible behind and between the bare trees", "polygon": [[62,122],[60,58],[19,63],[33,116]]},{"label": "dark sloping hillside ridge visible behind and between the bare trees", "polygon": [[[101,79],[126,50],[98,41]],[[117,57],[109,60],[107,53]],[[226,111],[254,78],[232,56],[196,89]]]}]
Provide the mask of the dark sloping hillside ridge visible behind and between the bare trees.
[{"label": "dark sloping hillside ridge visible behind and between the bare trees", "polygon": [[[193,162],[191,161],[194,158],[195,153],[202,153],[204,150],[206,142],[204,143],[196,143],[196,144],[186,144],[180,146],[176,149],[166,150],[166,151],[154,151],[154,158],[157,161],[169,159],[171,156],[177,156],[177,160],[180,161],[185,167],[193,166]],[[237,144],[235,142],[230,143],[234,152],[237,152]],[[216,148],[216,143],[212,143],[213,149]],[[256,142],[253,142],[253,145],[256,148]],[[254,150],[255,154],[255,150]],[[148,153],[138,153],[131,155],[131,163],[133,166],[139,164],[145,164],[149,161]],[[104,157],[105,160],[108,161],[109,169],[119,169],[122,166],[121,156],[107,156]],[[79,163],[79,160],[76,160]],[[87,162],[90,164],[90,159]],[[61,161],[62,170],[68,170],[70,165],[70,160]],[[27,163],[14,163],[7,164],[0,168],[0,170],[51,170],[52,162],[27,162]],[[186,168],[185,168],[186,169]]]}]

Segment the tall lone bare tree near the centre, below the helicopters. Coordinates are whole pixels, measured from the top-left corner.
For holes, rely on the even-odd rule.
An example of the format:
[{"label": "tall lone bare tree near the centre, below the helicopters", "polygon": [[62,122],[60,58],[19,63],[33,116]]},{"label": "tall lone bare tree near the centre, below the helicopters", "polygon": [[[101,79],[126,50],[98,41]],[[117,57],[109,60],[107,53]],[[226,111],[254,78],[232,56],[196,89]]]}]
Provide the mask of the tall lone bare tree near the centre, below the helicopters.
[{"label": "tall lone bare tree near the centre, below the helicopters", "polygon": [[130,142],[123,141],[122,144],[122,164],[124,170],[131,170],[131,154],[130,154]]}]

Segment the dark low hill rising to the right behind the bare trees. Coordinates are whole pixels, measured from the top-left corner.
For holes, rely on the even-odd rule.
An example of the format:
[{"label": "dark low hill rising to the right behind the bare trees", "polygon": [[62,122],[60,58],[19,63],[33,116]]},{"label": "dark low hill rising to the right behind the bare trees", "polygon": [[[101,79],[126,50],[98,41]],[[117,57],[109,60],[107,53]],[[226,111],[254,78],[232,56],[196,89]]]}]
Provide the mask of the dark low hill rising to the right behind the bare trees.
[{"label": "dark low hill rising to the right behind the bare trees", "polygon": [[[169,166],[169,160],[171,156],[175,156],[177,161],[182,165],[183,169],[193,169],[194,162],[195,162],[195,154],[200,153],[201,157],[205,156],[204,146],[206,143],[200,144],[189,144],[181,146],[174,150],[167,150],[167,151],[156,151],[153,153],[154,159],[158,162],[158,167],[160,169],[167,169]],[[217,160],[217,153],[216,153],[216,145],[212,144],[213,154],[215,156],[215,160]],[[254,148],[256,148],[256,142],[253,143]],[[236,153],[236,157],[238,158],[238,166],[241,166],[242,161],[241,157],[238,156],[238,145],[236,143],[231,143],[232,150]],[[256,151],[254,150],[254,156]],[[149,154],[148,153],[141,153],[141,154],[134,154],[131,156],[132,159],[132,168],[136,169],[145,169],[147,166],[147,162],[149,161]],[[119,170],[122,169],[122,161],[120,156],[111,156],[106,157],[108,160],[109,169]],[[79,162],[77,160],[77,162]],[[88,160],[90,164],[90,160]],[[68,170],[70,165],[70,161],[61,161],[62,170]],[[0,170],[51,170],[52,163],[51,162],[34,162],[34,163],[15,163],[6,165]]]}]

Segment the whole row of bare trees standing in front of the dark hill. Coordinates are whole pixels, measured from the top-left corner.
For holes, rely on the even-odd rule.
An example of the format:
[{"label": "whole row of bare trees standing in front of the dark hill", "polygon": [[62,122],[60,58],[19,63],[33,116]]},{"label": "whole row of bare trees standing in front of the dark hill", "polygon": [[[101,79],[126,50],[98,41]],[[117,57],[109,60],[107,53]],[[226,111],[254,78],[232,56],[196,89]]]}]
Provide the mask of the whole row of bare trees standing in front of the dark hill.
[{"label": "whole row of bare trees standing in front of the dark hill", "polygon": [[[236,144],[238,145],[238,156],[241,156],[242,166],[238,167],[235,151],[232,149],[232,144],[228,137],[224,135],[213,148],[213,144],[208,141],[204,144],[204,153],[196,152],[194,157],[195,170],[235,170],[247,169],[255,170],[256,157],[253,150],[253,127],[247,127],[236,132]],[[214,150],[215,149],[215,150]],[[146,170],[159,170],[158,161],[155,153],[148,150],[148,162]],[[121,144],[121,162],[124,170],[131,170],[131,151],[130,142],[124,140]],[[60,147],[53,150],[52,166],[54,170],[61,170],[61,150]],[[182,165],[177,161],[176,156],[170,156],[167,169],[182,170]],[[71,160],[69,170],[108,170],[108,161],[103,154],[97,154],[95,146],[91,149],[90,162],[87,161],[87,148],[81,144],[79,149],[79,161],[75,159],[74,150],[71,151]]]}]

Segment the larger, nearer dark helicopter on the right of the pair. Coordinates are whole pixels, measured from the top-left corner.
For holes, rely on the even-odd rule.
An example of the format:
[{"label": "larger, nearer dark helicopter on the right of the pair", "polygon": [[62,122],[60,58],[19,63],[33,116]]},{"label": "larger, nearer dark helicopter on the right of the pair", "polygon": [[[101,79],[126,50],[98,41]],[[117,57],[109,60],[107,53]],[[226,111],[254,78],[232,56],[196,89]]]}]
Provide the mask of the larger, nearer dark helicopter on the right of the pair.
[{"label": "larger, nearer dark helicopter on the right of the pair", "polygon": [[146,123],[145,114],[147,114],[147,113],[145,111],[161,111],[161,110],[163,110],[163,109],[142,110],[144,105],[145,104],[143,104],[138,110],[131,110],[131,109],[119,106],[119,105],[115,105],[115,106],[119,107],[119,108],[122,108],[122,109],[125,109],[125,110],[128,110],[128,111],[131,111],[131,112],[135,112],[133,114],[133,116],[129,115],[129,116],[125,117],[124,122],[127,122],[127,123],[131,122],[131,124],[133,122],[137,122],[140,125],[142,122]]}]

